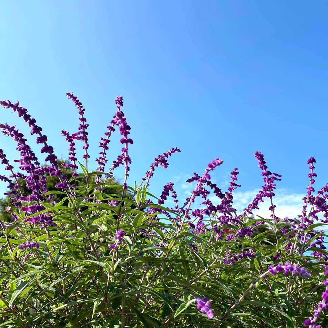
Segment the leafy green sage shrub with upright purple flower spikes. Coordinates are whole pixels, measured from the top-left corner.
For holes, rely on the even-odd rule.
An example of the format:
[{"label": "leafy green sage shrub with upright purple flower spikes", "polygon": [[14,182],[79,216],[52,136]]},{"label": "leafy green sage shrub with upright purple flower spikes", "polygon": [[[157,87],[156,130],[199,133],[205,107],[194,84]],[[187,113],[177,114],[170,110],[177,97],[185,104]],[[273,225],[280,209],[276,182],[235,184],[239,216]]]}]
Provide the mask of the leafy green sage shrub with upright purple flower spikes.
[{"label": "leafy green sage shrub with upright purple flower spikes", "polygon": [[[308,160],[309,185],[297,218],[275,214],[274,191],[281,175],[268,170],[255,152],[263,186],[242,213],[233,204],[239,172],[231,172],[227,191],[211,182],[211,161],[194,173],[190,197],[179,201],[174,183],[159,198],[150,194],[150,179],[178,148],[158,155],[145,176],[128,183],[130,126],[122,112],[123,97],[101,138],[97,169],[90,170],[85,109],[78,109],[77,132],[62,131],[70,162],[58,162],[48,138],[26,108],[0,101],[16,112],[42,145],[41,165],[27,139],[15,126],[0,124],[20,154],[9,162],[0,149],[13,206],[11,222],[0,220],[0,327],[298,327],[327,325],[328,184],[315,194],[314,163]],[[111,134],[122,138],[121,154],[105,171]],[[76,142],[84,164],[76,158]],[[59,165],[58,163],[61,163]],[[111,188],[114,170],[124,167],[124,181]],[[62,168],[72,170],[68,178]],[[80,172],[80,173],[79,173]],[[47,190],[46,176],[58,178]],[[30,191],[23,195],[25,181]],[[85,183],[81,183],[85,181]],[[56,198],[54,195],[62,195]],[[214,194],[217,201],[211,201]],[[174,206],[168,203],[173,198]],[[271,216],[254,210],[270,199]],[[326,287],[327,286],[327,287]],[[321,324],[320,324],[321,323]]]}]

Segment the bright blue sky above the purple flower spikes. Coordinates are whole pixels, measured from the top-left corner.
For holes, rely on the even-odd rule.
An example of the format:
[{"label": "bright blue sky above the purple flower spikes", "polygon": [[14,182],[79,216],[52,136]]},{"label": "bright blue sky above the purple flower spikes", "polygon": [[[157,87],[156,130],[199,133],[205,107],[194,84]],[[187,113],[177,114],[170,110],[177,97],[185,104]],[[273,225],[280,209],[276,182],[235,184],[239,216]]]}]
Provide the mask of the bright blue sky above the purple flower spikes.
[{"label": "bright blue sky above the purple flower spikes", "polygon": [[[290,207],[306,192],[308,157],[317,159],[316,186],[328,181],[326,1],[35,0],[1,1],[0,10],[0,98],[27,107],[58,156],[67,158],[61,129],[79,124],[66,92],[86,108],[92,163],[122,94],[134,140],[130,184],[171,147],[182,152],[156,170],[157,195],[173,180],[184,198],[185,178],[220,157],[213,178],[226,187],[237,167],[236,200],[246,202],[262,183],[256,150],[283,175],[277,194]],[[9,110],[1,122],[28,131]],[[14,146],[1,138],[11,159]]]}]

